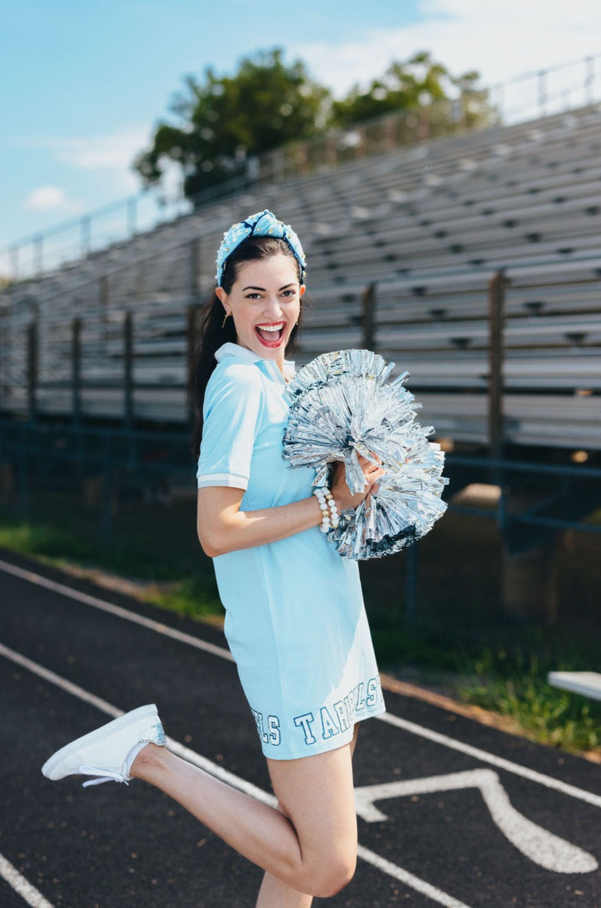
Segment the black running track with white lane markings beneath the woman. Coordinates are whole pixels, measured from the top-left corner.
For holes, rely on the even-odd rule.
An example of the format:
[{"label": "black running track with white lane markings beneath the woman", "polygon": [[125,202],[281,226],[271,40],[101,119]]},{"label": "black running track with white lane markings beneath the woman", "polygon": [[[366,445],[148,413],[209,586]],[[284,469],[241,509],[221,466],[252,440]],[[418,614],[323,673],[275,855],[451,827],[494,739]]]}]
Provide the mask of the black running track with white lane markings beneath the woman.
[{"label": "black running track with white lane markings beneath the woman", "polygon": [[[0,552],[0,641],[1,908],[251,908],[261,872],[160,793],[39,771],[156,702],[173,749],[269,800],[222,634]],[[601,908],[598,766],[386,701],[361,725],[360,862],[332,908]]]}]

